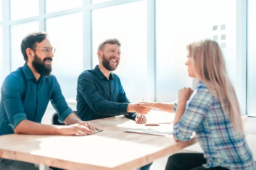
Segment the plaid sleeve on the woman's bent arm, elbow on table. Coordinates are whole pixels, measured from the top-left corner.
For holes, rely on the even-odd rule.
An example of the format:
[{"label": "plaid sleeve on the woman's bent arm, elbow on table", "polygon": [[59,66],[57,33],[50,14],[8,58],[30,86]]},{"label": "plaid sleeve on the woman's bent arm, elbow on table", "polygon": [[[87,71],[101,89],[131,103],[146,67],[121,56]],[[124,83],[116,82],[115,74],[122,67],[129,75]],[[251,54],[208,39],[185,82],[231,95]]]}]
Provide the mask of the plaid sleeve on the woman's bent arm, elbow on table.
[{"label": "plaid sleeve on the woman's bent arm, elbow on table", "polygon": [[[173,135],[179,141],[187,141],[190,139],[193,131],[195,131],[202,122],[207,109],[213,100],[209,91],[199,90],[186,104],[185,112],[180,121],[174,125]],[[177,110],[174,106],[174,110]]]}]

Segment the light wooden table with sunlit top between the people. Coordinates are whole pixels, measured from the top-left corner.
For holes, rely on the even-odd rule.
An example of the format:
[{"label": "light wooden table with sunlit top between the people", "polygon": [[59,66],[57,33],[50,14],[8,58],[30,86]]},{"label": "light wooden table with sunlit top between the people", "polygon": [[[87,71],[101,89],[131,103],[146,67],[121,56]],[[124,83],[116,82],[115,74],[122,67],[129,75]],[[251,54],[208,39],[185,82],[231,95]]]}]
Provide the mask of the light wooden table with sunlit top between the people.
[{"label": "light wooden table with sunlit top between the people", "polygon": [[[172,122],[175,114],[148,113],[148,122]],[[90,121],[104,130],[91,136],[0,136],[0,157],[69,170],[131,170],[197,142],[175,142],[172,135],[125,133],[131,128],[172,130],[172,124],[138,125],[124,116]]]}]

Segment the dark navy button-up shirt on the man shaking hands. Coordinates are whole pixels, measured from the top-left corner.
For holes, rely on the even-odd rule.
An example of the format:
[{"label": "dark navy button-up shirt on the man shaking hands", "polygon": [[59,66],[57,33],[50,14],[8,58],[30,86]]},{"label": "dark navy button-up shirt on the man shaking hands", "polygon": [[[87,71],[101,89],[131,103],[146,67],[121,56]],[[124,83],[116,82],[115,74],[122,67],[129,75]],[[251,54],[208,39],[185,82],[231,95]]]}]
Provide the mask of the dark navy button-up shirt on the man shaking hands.
[{"label": "dark navy button-up shirt on the man shaking hands", "polygon": [[78,116],[84,121],[118,115],[135,119],[137,115],[126,111],[129,100],[119,77],[111,73],[108,80],[98,65],[80,74],[76,100]]}]

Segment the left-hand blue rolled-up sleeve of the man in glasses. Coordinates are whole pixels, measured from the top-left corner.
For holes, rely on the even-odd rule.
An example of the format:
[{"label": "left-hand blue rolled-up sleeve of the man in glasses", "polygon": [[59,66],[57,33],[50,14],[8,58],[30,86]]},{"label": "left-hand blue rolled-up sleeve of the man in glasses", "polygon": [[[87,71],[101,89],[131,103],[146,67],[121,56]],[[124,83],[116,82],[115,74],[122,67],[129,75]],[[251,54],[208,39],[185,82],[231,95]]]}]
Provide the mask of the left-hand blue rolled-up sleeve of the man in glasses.
[{"label": "left-hand blue rolled-up sleeve of the man in glasses", "polygon": [[4,108],[13,130],[22,120],[27,119],[21,101],[22,86],[15,79],[12,76],[6,77],[1,89]]}]

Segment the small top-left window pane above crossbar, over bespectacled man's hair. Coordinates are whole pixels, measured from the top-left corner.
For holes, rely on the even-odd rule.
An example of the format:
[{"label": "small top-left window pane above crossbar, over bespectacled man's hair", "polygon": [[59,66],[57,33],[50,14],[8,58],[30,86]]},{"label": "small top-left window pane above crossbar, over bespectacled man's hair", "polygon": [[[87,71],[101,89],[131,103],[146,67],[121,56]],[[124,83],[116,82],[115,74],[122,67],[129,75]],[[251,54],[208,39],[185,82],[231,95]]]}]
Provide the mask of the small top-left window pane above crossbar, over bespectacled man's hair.
[{"label": "small top-left window pane above crossbar, over bespectacled man's hair", "polygon": [[11,20],[37,16],[38,6],[38,0],[11,0]]}]

